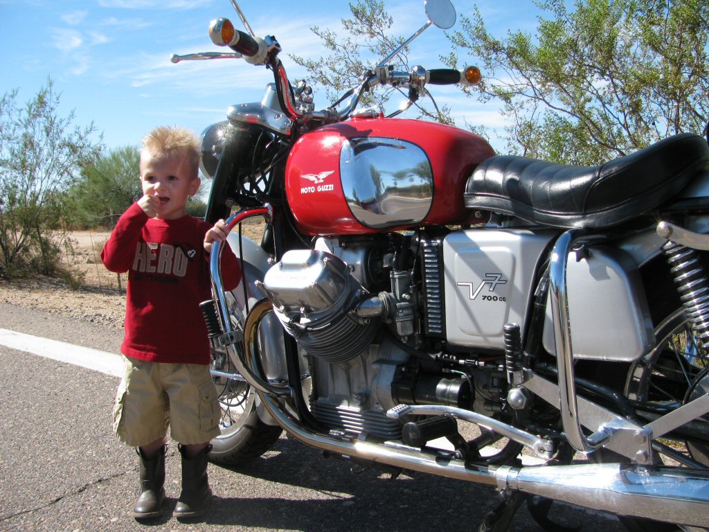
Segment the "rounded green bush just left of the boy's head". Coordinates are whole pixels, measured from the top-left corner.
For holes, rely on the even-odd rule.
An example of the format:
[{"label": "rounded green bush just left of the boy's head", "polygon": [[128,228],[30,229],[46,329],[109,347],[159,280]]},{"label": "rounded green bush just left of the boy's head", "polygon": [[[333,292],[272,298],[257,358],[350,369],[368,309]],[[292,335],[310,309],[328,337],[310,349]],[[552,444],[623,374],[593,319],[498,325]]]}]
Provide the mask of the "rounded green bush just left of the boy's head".
[{"label": "rounded green bush just left of the boy's head", "polygon": [[85,167],[70,195],[76,206],[74,222],[83,227],[115,225],[118,216],[143,195],[140,149],[123,146],[103,153]]}]

